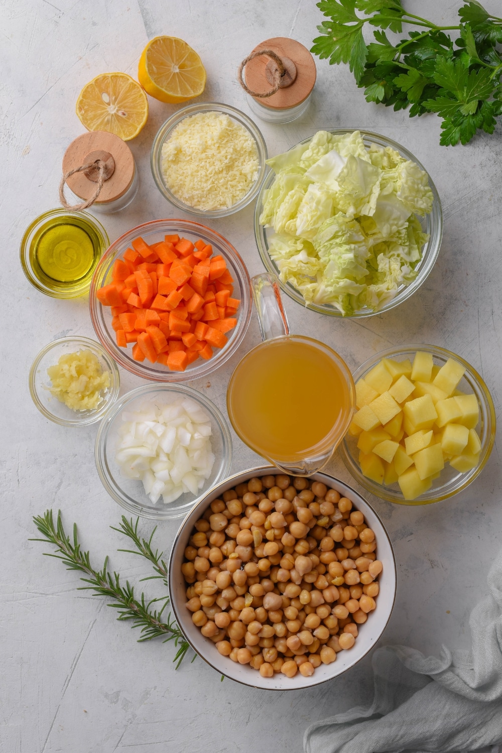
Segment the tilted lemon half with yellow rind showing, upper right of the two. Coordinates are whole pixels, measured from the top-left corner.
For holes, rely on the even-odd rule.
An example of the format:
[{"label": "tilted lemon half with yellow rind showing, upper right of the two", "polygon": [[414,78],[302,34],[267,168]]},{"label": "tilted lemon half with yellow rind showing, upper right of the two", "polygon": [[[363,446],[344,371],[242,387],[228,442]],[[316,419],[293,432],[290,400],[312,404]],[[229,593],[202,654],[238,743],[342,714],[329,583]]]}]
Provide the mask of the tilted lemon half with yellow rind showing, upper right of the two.
[{"label": "tilted lemon half with yellow rind showing, upper right of the two", "polygon": [[160,102],[186,102],[204,91],[205,69],[182,39],[155,37],[141,53],[138,81]]}]

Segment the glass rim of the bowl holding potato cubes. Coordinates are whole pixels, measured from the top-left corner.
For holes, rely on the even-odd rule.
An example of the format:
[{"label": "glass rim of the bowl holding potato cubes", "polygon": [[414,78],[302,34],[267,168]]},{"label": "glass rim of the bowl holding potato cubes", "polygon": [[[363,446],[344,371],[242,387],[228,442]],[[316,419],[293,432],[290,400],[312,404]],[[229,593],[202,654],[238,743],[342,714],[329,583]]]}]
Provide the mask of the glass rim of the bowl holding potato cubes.
[{"label": "glass rim of the bowl holding potato cubes", "polygon": [[367,370],[370,369],[370,367],[376,366],[376,364],[382,361],[382,358],[392,357],[392,355],[413,355],[418,350],[431,352],[432,355],[438,355],[439,357],[445,358],[446,360],[448,358],[452,358],[454,361],[458,361],[458,363],[462,364],[462,366],[465,367],[466,373],[471,377],[473,382],[475,382],[477,386],[479,386],[479,391],[485,397],[485,408],[486,413],[488,414],[490,431],[488,434],[488,442],[485,444],[485,447],[482,447],[482,458],[478,465],[476,465],[476,468],[472,468],[471,471],[467,471],[467,473],[461,474],[461,477],[465,477],[463,483],[461,483],[459,486],[456,486],[455,489],[452,489],[452,491],[445,492],[435,497],[431,496],[431,498],[427,498],[427,495],[430,495],[431,492],[434,492],[434,489],[431,489],[431,492],[425,492],[424,495],[420,495],[413,500],[404,499],[401,493],[398,494],[397,492],[394,492],[394,494],[392,494],[391,492],[389,492],[387,487],[377,484],[376,482],[364,476],[361,470],[357,468],[356,463],[352,459],[351,452],[347,447],[347,435],[345,434],[345,437],[343,437],[342,442],[340,442],[339,444],[338,451],[345,465],[345,468],[347,468],[347,470],[351,473],[352,477],[354,477],[354,480],[356,480],[357,483],[360,483],[361,486],[364,486],[364,489],[366,489],[367,492],[370,492],[371,494],[374,494],[379,498],[385,499],[388,502],[393,502],[397,505],[407,505],[409,507],[418,507],[419,505],[435,505],[437,502],[443,501],[444,499],[449,499],[455,494],[464,491],[464,489],[466,489],[467,486],[469,486],[470,483],[472,483],[473,480],[479,476],[483,468],[485,468],[485,465],[488,462],[489,457],[491,456],[491,450],[493,450],[494,447],[495,434],[497,429],[497,416],[495,413],[494,402],[493,398],[491,398],[491,393],[486,386],[485,380],[483,380],[481,375],[476,371],[472,364],[462,358],[461,355],[458,355],[457,353],[454,353],[451,350],[443,348],[439,345],[429,345],[427,343],[406,343],[406,345],[403,346],[394,346],[392,348],[382,350],[371,356],[371,358],[367,358],[367,360],[364,361],[364,363],[362,363],[361,366],[359,366],[354,371],[354,373],[352,374],[354,383],[357,383],[357,380],[361,379],[363,374],[366,373]]}]

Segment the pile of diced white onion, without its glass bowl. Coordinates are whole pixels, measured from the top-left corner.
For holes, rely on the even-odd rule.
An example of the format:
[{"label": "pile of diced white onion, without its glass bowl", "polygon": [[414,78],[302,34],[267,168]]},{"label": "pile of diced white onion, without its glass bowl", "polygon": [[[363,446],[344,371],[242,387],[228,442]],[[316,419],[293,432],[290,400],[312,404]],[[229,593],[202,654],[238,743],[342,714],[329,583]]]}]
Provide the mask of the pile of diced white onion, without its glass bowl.
[{"label": "pile of diced white onion, without its glass bowl", "polygon": [[127,478],[141,480],[153,505],[196,495],[211,476],[211,419],[195,401],[178,398],[124,411],[115,459]]}]

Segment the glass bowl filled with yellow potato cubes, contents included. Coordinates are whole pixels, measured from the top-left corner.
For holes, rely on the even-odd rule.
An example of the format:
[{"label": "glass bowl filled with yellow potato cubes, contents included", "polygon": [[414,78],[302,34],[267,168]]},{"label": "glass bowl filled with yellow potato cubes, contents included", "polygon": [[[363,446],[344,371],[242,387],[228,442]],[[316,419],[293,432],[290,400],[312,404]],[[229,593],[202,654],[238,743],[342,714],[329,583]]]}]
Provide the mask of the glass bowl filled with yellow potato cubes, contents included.
[{"label": "glass bowl filled with yellow potato cubes, contents included", "polygon": [[353,375],[357,411],[339,453],[361,486],[399,505],[430,505],[481,473],[494,445],[488,387],[459,355],[391,348]]}]

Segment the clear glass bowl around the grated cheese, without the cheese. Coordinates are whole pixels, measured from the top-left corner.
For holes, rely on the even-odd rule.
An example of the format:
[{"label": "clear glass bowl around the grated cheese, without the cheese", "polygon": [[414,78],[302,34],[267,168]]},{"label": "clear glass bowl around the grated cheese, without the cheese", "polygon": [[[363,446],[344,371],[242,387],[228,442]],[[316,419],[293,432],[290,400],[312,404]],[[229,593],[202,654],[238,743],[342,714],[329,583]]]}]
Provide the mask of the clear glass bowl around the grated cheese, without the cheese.
[{"label": "clear glass bowl around the grated cheese, without the cheese", "polygon": [[[205,212],[203,209],[196,209],[194,206],[185,204],[183,201],[175,197],[172,191],[166,186],[161,166],[163,144],[167,139],[169,139],[172,130],[178,125],[178,123],[181,123],[181,120],[184,120],[185,117],[190,117],[190,115],[196,115],[201,112],[224,113],[226,115],[229,115],[233,120],[236,120],[237,123],[240,123],[240,125],[245,127],[245,129],[254,139],[254,143],[256,144],[259,163],[257,179],[256,181],[254,181],[248,193],[245,194],[242,199],[233,204],[233,206],[224,207],[224,209],[208,210],[207,212]],[[174,204],[174,206],[177,206],[178,209],[182,209],[184,212],[190,212],[190,214],[199,215],[199,217],[204,218],[228,217],[228,215],[233,215],[234,212],[239,212],[239,209],[247,206],[248,203],[250,203],[257,196],[257,193],[260,190],[260,184],[265,177],[266,170],[268,169],[265,164],[266,157],[267,151],[265,139],[263,139],[259,128],[255,125],[255,123],[253,123],[251,118],[249,118],[240,110],[237,110],[235,107],[231,107],[230,105],[221,105],[219,102],[199,102],[194,105],[187,105],[187,107],[181,108],[181,110],[175,112],[175,114],[169,117],[168,120],[166,120],[166,122],[163,124],[163,126],[160,127],[160,130],[158,131],[157,136],[155,136],[154,144],[152,146],[151,171],[152,175],[154,176],[155,184],[157,185],[160,193],[163,194],[163,197],[165,197],[169,202]]]}]

